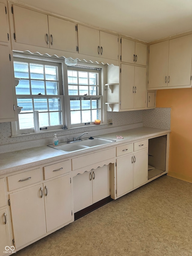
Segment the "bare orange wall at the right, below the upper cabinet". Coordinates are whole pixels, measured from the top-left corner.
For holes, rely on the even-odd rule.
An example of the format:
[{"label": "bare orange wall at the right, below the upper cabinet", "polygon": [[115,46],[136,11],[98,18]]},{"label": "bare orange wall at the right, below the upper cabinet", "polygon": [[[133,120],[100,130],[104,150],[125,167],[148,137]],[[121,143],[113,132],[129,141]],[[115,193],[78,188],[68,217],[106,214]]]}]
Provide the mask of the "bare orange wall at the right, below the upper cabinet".
[{"label": "bare orange wall at the right, below the upper cabinet", "polygon": [[192,88],[158,90],[156,107],[171,108],[168,175],[192,182]]}]

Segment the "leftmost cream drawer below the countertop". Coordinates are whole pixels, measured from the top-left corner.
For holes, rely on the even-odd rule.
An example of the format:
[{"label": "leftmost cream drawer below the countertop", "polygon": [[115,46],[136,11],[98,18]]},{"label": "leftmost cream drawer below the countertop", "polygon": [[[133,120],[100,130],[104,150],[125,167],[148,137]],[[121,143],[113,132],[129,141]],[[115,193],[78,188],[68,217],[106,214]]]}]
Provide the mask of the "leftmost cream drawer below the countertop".
[{"label": "leftmost cream drawer below the countertop", "polygon": [[13,190],[41,181],[40,168],[7,177],[8,189]]}]

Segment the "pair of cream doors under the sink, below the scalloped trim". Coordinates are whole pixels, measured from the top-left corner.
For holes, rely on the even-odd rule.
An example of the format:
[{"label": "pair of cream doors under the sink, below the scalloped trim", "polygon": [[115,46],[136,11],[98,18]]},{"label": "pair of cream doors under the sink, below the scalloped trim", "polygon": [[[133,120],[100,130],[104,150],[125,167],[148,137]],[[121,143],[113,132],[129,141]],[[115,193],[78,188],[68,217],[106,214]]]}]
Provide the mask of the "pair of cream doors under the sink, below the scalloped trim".
[{"label": "pair of cream doors under the sink, below the scalloped trim", "polygon": [[110,196],[109,165],[73,177],[74,212]]}]

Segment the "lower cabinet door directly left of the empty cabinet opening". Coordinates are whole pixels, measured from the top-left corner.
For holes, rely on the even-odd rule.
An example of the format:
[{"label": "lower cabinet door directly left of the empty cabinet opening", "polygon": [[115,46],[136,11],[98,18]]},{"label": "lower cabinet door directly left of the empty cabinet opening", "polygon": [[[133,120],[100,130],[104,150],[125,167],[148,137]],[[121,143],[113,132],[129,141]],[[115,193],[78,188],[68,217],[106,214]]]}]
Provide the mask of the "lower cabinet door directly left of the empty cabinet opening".
[{"label": "lower cabinet door directly left of the empty cabinet opening", "polygon": [[133,187],[147,182],[148,175],[148,149],[134,153]]}]

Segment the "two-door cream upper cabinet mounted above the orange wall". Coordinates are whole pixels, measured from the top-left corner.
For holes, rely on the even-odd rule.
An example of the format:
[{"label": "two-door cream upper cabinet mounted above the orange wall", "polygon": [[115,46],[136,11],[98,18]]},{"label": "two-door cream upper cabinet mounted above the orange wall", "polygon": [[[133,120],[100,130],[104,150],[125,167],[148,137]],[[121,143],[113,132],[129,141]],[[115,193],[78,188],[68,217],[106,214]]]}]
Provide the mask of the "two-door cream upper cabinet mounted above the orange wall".
[{"label": "two-door cream upper cabinet mounted above the orange wall", "polygon": [[149,89],[191,84],[192,35],[150,45]]}]

